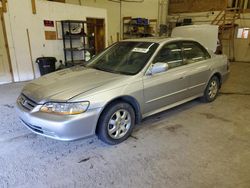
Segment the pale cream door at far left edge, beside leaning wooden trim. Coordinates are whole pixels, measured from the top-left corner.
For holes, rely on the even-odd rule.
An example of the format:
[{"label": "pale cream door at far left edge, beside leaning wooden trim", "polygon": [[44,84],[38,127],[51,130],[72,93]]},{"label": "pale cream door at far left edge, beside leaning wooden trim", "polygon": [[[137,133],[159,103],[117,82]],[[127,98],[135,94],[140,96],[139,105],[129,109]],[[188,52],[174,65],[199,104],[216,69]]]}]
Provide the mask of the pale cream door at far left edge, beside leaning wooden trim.
[{"label": "pale cream door at far left edge, beside leaning wooden trim", "polygon": [[0,8],[0,84],[12,82],[11,66],[7,51],[3,11]]}]

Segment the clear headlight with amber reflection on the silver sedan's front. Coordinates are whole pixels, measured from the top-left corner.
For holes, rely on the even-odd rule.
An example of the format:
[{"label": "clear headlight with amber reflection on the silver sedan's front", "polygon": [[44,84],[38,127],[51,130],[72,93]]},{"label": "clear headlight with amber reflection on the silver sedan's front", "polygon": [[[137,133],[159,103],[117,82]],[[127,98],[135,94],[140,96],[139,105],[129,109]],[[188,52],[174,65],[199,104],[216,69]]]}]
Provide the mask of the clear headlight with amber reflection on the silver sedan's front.
[{"label": "clear headlight with amber reflection on the silver sedan's front", "polygon": [[75,115],[85,112],[89,107],[89,102],[69,102],[69,103],[45,103],[41,112],[54,113],[60,115]]}]

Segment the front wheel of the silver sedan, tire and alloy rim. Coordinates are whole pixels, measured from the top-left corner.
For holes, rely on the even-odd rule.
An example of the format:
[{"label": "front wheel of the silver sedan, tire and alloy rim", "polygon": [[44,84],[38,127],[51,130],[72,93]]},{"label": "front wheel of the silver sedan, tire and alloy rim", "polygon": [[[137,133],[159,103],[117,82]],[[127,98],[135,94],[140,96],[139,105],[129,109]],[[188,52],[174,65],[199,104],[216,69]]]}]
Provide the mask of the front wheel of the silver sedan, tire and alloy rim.
[{"label": "front wheel of the silver sedan, tire and alloy rim", "polygon": [[115,145],[126,140],[134,126],[134,109],[128,103],[116,102],[104,109],[99,118],[96,133],[103,142]]}]

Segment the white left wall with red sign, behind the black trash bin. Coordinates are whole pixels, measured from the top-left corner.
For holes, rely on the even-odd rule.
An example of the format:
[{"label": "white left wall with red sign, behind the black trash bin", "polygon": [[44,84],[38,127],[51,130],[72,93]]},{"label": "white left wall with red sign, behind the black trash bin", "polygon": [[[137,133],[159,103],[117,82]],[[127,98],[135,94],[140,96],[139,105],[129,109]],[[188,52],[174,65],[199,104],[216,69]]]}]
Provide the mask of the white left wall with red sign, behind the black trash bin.
[{"label": "white left wall with red sign, behind the black trash bin", "polygon": [[[8,0],[8,11],[4,18],[14,81],[34,78],[31,63],[35,65],[36,77],[40,75],[35,63],[37,57],[54,56],[58,60],[64,60],[62,40],[45,40],[43,20],[85,20],[86,17],[93,17],[104,18],[107,24],[107,11],[105,9],[40,0],[36,0],[36,9],[37,14],[34,15],[32,14],[31,1]],[[26,29],[29,30],[30,35],[32,62]]]}]

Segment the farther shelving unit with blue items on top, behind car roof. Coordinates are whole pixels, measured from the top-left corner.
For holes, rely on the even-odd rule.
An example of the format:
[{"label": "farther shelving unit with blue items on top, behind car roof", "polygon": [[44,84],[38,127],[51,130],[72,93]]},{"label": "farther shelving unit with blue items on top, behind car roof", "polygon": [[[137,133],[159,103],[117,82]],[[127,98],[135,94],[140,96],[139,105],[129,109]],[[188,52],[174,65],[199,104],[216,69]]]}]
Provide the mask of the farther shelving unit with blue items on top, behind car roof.
[{"label": "farther shelving unit with blue items on top, behind car roof", "polygon": [[123,39],[155,36],[156,25],[157,19],[123,17]]}]

